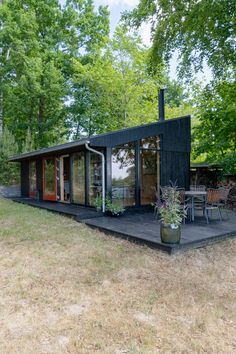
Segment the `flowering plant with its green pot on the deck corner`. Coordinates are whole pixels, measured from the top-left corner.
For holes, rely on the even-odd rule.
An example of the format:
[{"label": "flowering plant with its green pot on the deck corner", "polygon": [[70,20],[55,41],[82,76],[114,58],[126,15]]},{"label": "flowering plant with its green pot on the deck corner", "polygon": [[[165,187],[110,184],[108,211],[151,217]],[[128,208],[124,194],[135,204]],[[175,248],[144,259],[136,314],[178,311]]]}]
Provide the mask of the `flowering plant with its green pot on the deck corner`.
[{"label": "flowering plant with its green pot on the deck corner", "polygon": [[181,222],[186,217],[186,211],[181,206],[180,193],[176,186],[162,188],[161,191],[162,201],[159,205],[161,241],[179,243]]}]

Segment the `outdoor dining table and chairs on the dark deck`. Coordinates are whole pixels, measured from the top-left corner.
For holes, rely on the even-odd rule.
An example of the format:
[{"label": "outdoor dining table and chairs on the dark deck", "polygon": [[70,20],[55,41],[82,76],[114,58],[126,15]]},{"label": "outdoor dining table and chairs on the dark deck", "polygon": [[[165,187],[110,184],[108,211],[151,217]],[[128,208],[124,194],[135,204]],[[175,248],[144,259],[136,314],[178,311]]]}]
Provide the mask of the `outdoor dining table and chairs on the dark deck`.
[{"label": "outdoor dining table and chairs on the dark deck", "polygon": [[[168,187],[161,187],[161,194],[163,190]],[[206,188],[204,185],[191,185],[190,190],[184,188],[178,188],[181,207],[185,210],[189,221],[194,222],[196,212],[202,212],[209,224],[212,218],[213,211],[218,214],[218,219],[222,222],[222,209],[224,209],[226,217],[228,219],[227,212],[227,199],[229,195],[229,189],[226,188]],[[159,216],[159,205],[161,196],[157,198],[157,202],[154,205],[154,215],[156,218]],[[211,216],[211,217],[210,217]],[[185,218],[183,218],[185,223]]]}]

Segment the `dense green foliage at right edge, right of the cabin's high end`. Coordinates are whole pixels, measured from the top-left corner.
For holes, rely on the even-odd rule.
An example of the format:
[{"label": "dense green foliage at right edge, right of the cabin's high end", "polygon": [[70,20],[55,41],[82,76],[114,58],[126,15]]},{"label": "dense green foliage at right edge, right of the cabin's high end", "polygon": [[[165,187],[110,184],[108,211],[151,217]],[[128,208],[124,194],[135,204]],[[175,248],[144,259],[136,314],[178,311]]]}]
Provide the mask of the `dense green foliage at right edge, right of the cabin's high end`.
[{"label": "dense green foliage at right edge, right of the cabin's high end", "polygon": [[236,173],[236,83],[211,83],[197,97],[200,124],[194,129],[194,156]]}]

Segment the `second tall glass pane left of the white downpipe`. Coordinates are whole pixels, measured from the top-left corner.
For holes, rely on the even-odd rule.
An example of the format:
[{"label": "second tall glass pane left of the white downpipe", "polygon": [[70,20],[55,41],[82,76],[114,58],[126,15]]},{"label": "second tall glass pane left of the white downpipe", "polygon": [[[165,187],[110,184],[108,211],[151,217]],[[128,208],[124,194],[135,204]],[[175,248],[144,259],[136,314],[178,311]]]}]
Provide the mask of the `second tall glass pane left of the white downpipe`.
[{"label": "second tall glass pane left of the white downpipe", "polygon": [[85,162],[84,152],[73,155],[73,179],[72,179],[73,203],[85,203]]}]

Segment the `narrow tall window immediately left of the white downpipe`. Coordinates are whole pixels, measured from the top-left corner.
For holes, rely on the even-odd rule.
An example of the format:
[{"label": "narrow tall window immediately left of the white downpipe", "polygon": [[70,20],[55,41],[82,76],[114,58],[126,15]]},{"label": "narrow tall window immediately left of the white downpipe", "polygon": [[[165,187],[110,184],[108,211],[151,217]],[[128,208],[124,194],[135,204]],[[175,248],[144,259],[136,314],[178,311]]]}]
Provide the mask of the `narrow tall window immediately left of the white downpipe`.
[{"label": "narrow tall window immediately left of the white downpipe", "polygon": [[89,155],[89,205],[94,206],[96,197],[102,193],[102,158],[95,153]]}]

